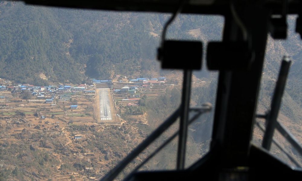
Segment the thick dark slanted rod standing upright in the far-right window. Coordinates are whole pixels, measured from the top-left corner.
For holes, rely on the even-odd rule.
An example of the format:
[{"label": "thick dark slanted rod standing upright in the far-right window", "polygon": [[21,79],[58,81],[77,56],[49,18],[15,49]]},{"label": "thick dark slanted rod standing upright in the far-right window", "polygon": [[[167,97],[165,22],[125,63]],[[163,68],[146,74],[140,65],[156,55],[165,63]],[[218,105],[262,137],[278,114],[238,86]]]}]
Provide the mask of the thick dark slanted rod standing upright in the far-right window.
[{"label": "thick dark slanted rod standing upright in the far-right window", "polygon": [[262,142],[262,147],[267,150],[269,150],[271,148],[271,140],[273,138],[275,127],[277,124],[276,123],[277,116],[279,113],[282,95],[284,92],[290,65],[291,65],[291,61],[290,61],[289,57],[284,56],[282,63],[281,63],[278,81],[277,81],[276,87],[275,87],[275,93],[274,93],[273,99],[271,101],[271,111],[268,114],[266,131],[264,133],[263,142]]}]

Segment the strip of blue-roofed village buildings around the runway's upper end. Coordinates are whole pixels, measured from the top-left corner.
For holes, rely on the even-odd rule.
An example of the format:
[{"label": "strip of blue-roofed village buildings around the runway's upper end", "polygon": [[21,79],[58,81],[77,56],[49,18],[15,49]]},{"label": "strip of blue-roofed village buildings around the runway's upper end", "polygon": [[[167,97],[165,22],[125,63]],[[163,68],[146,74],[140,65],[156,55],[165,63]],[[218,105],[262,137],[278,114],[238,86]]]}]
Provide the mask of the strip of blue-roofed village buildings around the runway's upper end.
[{"label": "strip of blue-roofed village buildings around the runway's upper end", "polygon": [[[120,78],[120,75],[116,76]],[[95,89],[111,88],[112,97],[114,99],[115,108],[118,106],[138,106],[138,102],[145,94],[148,97],[157,97],[166,87],[174,86],[167,84],[166,78],[137,78],[128,81],[119,80],[96,80],[91,79],[91,85],[49,85],[37,86],[30,84],[11,84],[11,81],[0,80],[0,102],[10,102],[12,98],[30,93],[30,97],[26,97],[27,102],[32,103],[49,103],[50,106],[57,106],[55,100],[69,101],[72,98],[95,97]],[[10,92],[6,93],[6,92]],[[28,94],[27,94],[28,95]],[[19,96],[20,97],[20,96]],[[24,101],[24,100],[22,100]],[[2,108],[4,108],[2,106]],[[70,109],[77,109],[77,105],[70,105]]]}]

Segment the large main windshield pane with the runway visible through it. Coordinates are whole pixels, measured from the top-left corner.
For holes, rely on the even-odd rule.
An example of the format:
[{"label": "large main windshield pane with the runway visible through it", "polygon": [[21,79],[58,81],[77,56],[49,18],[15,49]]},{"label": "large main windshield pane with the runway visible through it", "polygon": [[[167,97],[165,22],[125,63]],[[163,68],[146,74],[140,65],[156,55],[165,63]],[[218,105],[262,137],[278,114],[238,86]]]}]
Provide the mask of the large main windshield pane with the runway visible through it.
[{"label": "large main windshield pane with the runway visible through it", "polygon": [[[164,122],[182,95],[182,71],[161,70],[156,60],[170,16],[0,1],[1,179],[101,178]],[[180,15],[167,39],[201,40],[206,49],[221,40],[223,23],[219,16]],[[216,87],[217,72],[204,64],[193,73],[190,106],[214,106]],[[209,149],[213,111],[189,127],[186,166]],[[177,138],[140,169],[175,169]]]}]

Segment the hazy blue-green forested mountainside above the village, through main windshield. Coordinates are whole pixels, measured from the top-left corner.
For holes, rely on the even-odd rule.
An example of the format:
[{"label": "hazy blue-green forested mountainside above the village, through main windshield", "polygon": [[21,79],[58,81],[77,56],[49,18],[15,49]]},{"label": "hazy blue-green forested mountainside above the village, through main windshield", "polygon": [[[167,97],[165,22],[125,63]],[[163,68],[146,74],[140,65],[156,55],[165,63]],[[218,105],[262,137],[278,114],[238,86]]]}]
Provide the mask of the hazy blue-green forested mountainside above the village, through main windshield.
[{"label": "hazy blue-green forested mountainside above the village, through main windshield", "polygon": [[[156,47],[167,14],[43,8],[5,1],[0,12],[2,78],[37,82],[43,73],[51,82],[81,83],[86,77],[148,76],[159,71]],[[211,20],[181,16],[168,37],[214,37],[216,32],[199,28],[222,27],[221,21]]]}]

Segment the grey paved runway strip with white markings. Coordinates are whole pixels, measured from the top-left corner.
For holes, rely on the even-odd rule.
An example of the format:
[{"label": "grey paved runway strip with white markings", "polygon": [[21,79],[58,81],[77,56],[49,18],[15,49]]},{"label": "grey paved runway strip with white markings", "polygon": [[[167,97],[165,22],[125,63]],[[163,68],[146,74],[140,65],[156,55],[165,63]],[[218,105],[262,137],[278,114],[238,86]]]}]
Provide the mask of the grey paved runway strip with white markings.
[{"label": "grey paved runway strip with white markings", "polygon": [[100,89],[98,91],[99,98],[100,98],[100,115],[101,121],[102,120],[112,120],[111,110],[110,110],[110,103],[109,103],[109,89]]}]

